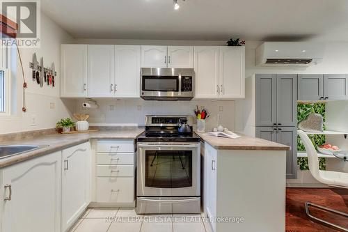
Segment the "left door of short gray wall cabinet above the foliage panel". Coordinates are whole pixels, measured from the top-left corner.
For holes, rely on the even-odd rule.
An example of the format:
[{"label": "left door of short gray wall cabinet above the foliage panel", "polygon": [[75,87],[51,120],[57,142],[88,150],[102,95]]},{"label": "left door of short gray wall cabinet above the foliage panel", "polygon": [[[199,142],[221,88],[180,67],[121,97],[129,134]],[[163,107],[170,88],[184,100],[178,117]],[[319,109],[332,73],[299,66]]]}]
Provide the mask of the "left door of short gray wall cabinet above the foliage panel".
[{"label": "left door of short gray wall cabinet above the foliage panel", "polygon": [[299,100],[324,99],[323,75],[299,75]]}]

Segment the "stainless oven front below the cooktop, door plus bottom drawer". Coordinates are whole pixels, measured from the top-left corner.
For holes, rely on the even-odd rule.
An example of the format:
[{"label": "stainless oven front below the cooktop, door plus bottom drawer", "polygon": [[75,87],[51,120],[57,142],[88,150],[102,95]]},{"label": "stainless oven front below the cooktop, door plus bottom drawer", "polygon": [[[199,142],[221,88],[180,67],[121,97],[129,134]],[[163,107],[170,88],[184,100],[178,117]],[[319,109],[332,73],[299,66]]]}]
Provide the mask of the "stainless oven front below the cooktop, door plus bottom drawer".
[{"label": "stainless oven front below the cooktop, door plus bottom drawer", "polygon": [[200,212],[200,143],[140,142],[138,213]]}]

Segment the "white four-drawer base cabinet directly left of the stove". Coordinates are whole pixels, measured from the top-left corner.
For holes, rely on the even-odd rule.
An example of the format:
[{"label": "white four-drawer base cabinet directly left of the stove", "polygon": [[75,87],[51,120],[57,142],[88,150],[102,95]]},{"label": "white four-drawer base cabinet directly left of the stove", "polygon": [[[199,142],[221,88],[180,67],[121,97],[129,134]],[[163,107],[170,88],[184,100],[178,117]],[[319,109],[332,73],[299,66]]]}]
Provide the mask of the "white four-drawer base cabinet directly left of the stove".
[{"label": "white four-drawer base cabinet directly left of the stove", "polygon": [[99,140],[95,202],[99,206],[135,206],[133,140]]}]

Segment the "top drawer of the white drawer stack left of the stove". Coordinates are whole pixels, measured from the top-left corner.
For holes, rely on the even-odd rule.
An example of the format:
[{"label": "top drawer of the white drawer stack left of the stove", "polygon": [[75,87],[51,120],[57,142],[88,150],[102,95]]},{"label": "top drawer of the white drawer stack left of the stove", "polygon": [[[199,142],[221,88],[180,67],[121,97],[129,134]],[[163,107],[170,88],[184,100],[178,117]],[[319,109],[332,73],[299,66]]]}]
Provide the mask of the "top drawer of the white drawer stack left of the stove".
[{"label": "top drawer of the white drawer stack left of the stove", "polygon": [[100,140],[97,143],[100,153],[134,153],[133,140]]}]

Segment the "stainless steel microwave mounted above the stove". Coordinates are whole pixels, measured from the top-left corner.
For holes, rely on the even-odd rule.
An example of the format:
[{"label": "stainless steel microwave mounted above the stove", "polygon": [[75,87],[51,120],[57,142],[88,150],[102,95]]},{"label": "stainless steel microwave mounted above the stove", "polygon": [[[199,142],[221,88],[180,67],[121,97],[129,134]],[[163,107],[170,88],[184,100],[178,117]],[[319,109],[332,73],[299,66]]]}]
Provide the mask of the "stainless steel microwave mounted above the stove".
[{"label": "stainless steel microwave mounted above the stove", "polygon": [[193,68],[141,68],[144,100],[191,100],[194,96]]}]

